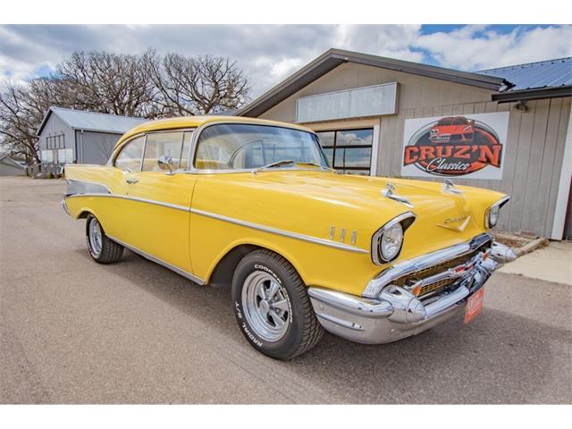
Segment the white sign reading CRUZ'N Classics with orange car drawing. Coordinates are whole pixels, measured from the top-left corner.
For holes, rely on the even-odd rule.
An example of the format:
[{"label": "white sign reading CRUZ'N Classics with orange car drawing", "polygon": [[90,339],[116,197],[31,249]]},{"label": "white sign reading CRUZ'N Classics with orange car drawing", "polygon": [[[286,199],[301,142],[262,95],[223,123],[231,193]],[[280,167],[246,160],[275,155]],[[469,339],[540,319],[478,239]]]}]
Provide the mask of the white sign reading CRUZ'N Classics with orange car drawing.
[{"label": "white sign reading CRUZ'N Classics with orange car drawing", "polygon": [[402,176],[502,179],[509,112],[405,121]]}]

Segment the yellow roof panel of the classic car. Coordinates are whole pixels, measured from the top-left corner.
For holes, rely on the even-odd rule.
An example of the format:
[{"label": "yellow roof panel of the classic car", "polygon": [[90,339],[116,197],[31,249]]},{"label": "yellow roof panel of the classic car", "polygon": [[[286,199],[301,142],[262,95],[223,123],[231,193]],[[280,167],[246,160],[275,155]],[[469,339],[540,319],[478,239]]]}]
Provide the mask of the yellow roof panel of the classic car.
[{"label": "yellow roof panel of the classic car", "polygon": [[207,123],[251,123],[259,125],[273,125],[283,128],[291,128],[293,130],[302,130],[307,132],[314,132],[307,128],[301,127],[294,123],[268,121],[265,119],[245,118],[240,116],[221,116],[221,115],[200,115],[200,116],[181,116],[176,118],[159,119],[156,121],[149,121],[142,123],[135,128],[127,131],[122,135],[122,138],[117,141],[115,147],[119,147],[122,143],[133,136],[150,131],[163,131],[163,130],[180,130],[187,128],[198,128]]}]

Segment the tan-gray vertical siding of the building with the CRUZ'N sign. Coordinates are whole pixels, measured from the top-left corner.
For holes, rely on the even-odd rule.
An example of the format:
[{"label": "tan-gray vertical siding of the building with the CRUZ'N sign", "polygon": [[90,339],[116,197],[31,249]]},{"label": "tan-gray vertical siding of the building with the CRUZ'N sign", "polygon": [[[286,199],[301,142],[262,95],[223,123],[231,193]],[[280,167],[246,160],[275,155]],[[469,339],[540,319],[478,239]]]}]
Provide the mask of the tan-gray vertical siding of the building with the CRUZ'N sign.
[{"label": "tan-gray vertical siding of the building with the CRUZ'N sign", "polygon": [[[345,63],[275,105],[261,117],[295,122],[296,99],[299,97],[391,81],[400,85],[398,114],[368,119],[379,123],[380,127],[379,157],[376,160],[378,175],[400,177],[406,119],[510,112],[508,142],[503,152],[505,159],[502,180],[454,181],[462,185],[499,190],[511,196],[510,204],[501,211],[499,228],[534,231],[538,235],[550,237],[571,97],[529,102],[528,111],[522,112],[514,109],[514,103],[499,105],[490,101],[492,91],[485,89]],[[344,122],[347,128],[351,127],[352,122],[359,121]],[[327,123],[316,122],[307,126],[324,130]],[[427,180],[442,181],[441,178]]]}]

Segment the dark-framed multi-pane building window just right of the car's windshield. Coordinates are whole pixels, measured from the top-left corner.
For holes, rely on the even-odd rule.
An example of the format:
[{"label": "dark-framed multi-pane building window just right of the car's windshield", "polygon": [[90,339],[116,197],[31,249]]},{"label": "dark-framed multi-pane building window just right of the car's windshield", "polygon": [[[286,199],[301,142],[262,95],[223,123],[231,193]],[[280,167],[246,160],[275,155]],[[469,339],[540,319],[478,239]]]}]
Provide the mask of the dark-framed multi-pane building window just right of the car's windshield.
[{"label": "dark-framed multi-pane building window just right of the car's windshield", "polygon": [[330,165],[340,172],[369,175],[374,129],[316,132]]}]

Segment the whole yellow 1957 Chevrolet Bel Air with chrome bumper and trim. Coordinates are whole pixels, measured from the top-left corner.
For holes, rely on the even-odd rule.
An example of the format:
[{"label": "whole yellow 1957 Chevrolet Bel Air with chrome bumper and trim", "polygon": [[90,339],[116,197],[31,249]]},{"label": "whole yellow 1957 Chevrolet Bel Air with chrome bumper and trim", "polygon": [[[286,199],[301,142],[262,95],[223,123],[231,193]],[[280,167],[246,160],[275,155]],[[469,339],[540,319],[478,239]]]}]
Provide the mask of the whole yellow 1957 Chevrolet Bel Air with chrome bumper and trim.
[{"label": "whole yellow 1957 Chevrolet Bel Air with chrome bumper and trim", "polygon": [[315,133],[288,123],[147,122],[106,165],[65,177],[93,259],[129,248],[198,284],[230,282],[240,331],[270,357],[306,352],[324,329],[376,344],[467,321],[515,257],[487,233],[506,195],[337,174]]}]

